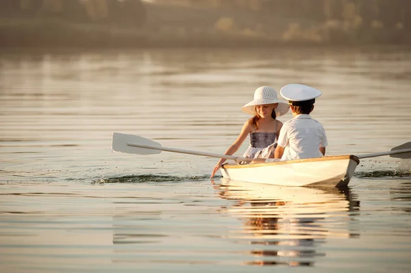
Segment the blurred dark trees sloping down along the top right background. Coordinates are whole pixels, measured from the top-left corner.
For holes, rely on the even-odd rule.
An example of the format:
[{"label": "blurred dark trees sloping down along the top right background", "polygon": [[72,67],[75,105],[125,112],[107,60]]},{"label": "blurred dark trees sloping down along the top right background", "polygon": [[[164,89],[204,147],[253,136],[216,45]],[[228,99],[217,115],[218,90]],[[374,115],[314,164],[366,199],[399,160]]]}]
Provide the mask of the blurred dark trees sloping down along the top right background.
[{"label": "blurred dark trees sloping down along the top right background", "polygon": [[[155,0],[157,3],[206,6],[263,12],[272,16],[314,21],[353,21],[369,27],[377,21],[384,27],[411,29],[410,0]],[[359,22],[360,21],[360,22]],[[374,23],[375,24],[375,23]]]}]

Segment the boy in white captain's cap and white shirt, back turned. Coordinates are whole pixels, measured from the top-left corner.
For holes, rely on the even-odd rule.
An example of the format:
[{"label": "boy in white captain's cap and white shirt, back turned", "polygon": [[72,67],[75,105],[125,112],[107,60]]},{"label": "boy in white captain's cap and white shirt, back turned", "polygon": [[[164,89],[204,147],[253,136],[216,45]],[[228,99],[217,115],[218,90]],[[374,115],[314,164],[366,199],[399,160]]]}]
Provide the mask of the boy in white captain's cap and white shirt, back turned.
[{"label": "boy in white captain's cap and white shirt, back turned", "polygon": [[[310,116],[315,99],[321,96],[321,91],[303,84],[288,84],[281,88],[280,94],[288,100],[294,118],[284,122],[279,132],[275,159],[266,161],[306,159],[325,155],[328,143],[323,125]],[[253,162],[259,161],[255,159]]]}]

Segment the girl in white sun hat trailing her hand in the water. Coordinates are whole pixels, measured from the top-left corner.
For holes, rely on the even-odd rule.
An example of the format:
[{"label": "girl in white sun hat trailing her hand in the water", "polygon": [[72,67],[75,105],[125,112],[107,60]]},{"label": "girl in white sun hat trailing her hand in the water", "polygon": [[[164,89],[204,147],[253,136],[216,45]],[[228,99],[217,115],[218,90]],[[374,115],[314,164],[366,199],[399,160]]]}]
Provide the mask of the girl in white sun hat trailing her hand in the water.
[{"label": "girl in white sun hat trailing her hand in the water", "polygon": [[[241,109],[247,114],[253,115],[242,126],[240,135],[234,143],[229,146],[225,155],[233,155],[240,148],[242,142],[250,135],[250,146],[243,157],[269,158],[275,150],[275,142],[278,139],[282,122],[277,116],[284,116],[290,107],[288,103],[277,99],[277,92],[269,86],[257,88],[254,92],[253,101],[244,105]],[[211,177],[221,168],[225,159],[217,162]]]}]

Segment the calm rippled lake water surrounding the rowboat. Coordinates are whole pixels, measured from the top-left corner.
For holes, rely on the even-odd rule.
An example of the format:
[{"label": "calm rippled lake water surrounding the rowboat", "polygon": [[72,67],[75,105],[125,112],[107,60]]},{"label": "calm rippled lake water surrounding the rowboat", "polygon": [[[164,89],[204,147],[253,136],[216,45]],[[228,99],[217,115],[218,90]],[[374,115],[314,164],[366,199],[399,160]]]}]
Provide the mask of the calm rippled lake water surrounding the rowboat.
[{"label": "calm rippled lake water surrounding the rowboat", "polygon": [[1,272],[410,272],[410,161],[364,159],[349,188],[321,190],[210,181],[209,157],[111,151],[117,131],[223,153],[254,90],[287,83],[323,92],[312,116],[327,155],[389,151],[410,141],[410,49],[15,50],[0,61]]}]

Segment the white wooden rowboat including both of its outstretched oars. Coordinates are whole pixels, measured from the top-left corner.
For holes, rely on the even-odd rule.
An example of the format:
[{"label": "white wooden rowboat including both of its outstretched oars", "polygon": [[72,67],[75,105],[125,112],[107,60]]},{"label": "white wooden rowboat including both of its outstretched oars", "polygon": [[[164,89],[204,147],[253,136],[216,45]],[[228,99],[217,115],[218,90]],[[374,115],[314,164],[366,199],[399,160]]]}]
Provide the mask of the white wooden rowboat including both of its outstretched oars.
[{"label": "white wooden rowboat including both of its outstretched oars", "polygon": [[[236,162],[251,159],[234,155],[221,155],[201,151],[164,147],[160,143],[138,135],[113,133],[113,151],[150,155],[168,151],[205,157],[231,159]],[[310,159],[275,161],[258,164],[225,164],[221,168],[223,177],[236,181],[266,183],[281,186],[347,187],[360,159],[390,155],[402,159],[411,158],[411,142],[392,148],[390,151],[365,155],[336,155]]]}]

